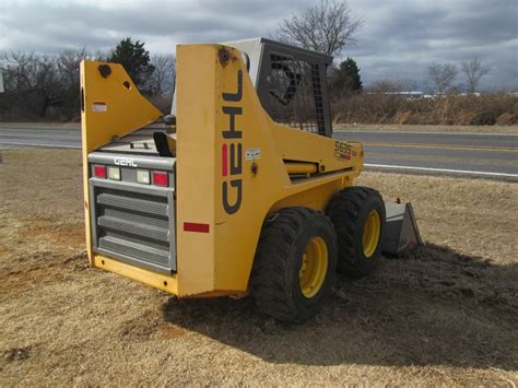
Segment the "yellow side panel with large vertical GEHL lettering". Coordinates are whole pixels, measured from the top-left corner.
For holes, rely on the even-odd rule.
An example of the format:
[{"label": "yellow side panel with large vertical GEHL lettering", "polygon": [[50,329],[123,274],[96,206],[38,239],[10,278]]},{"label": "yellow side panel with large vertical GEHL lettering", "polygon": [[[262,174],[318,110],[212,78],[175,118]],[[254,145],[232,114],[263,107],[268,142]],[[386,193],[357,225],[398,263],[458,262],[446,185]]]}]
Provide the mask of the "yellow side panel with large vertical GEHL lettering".
[{"label": "yellow side panel with large vertical GEHL lettering", "polygon": [[292,185],[273,121],[239,51],[228,52],[229,60],[216,66],[215,289],[244,291],[264,217]]}]

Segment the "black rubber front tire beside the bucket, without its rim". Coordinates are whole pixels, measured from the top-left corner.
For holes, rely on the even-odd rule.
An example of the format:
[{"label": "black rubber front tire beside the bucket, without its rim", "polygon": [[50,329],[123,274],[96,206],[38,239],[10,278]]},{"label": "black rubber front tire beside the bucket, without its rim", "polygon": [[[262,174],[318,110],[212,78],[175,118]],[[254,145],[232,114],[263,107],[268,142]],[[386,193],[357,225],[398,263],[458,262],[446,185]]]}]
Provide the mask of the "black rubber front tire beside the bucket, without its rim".
[{"label": "black rubber front tire beside the bucket, without its rim", "polygon": [[[366,258],[363,227],[372,210],[379,212],[381,231],[376,250]],[[385,233],[385,203],[379,192],[368,187],[345,188],[331,199],[328,215],[337,232],[338,271],[357,278],[370,273],[381,257]]]}]

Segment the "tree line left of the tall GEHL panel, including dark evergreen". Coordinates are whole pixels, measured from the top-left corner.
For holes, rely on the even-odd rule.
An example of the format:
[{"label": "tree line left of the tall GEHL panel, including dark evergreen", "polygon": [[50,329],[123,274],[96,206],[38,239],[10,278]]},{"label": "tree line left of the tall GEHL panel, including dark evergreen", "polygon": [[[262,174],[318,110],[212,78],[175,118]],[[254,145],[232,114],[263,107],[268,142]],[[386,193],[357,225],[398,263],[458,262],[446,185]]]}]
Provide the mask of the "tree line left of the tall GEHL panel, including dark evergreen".
[{"label": "tree line left of the tall GEHL panel, including dark evergreen", "polygon": [[126,38],[108,54],[81,48],[56,56],[23,51],[1,55],[4,93],[0,93],[0,120],[79,120],[79,66],[83,59],[121,63],[155,105],[164,111],[170,107],[175,58],[150,56],[144,43]]}]

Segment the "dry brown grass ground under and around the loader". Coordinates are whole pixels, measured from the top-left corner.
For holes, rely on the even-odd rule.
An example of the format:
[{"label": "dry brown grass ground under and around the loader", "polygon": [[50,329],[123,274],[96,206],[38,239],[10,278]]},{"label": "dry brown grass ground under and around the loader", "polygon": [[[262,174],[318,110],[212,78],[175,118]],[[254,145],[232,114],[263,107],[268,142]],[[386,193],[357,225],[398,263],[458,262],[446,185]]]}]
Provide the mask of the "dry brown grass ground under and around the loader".
[{"label": "dry brown grass ground under and around the loader", "polygon": [[301,326],[87,267],[78,151],[2,152],[0,385],[516,386],[518,185],[364,173],[425,245]]}]

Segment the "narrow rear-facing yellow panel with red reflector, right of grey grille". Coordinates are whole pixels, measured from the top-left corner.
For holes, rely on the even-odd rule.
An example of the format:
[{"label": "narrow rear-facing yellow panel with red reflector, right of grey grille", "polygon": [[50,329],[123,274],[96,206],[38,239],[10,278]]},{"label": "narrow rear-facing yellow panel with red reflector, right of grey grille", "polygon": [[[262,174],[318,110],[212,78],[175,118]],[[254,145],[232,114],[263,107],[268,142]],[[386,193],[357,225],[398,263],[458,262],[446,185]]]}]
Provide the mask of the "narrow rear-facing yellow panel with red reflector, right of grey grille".
[{"label": "narrow rear-facing yellow panel with red reflector, right of grey grille", "polygon": [[[177,46],[177,277],[181,295],[213,290],[216,74],[214,49]],[[208,233],[185,231],[209,225]]]}]

